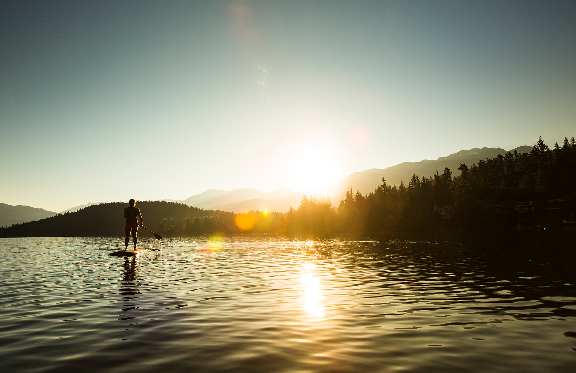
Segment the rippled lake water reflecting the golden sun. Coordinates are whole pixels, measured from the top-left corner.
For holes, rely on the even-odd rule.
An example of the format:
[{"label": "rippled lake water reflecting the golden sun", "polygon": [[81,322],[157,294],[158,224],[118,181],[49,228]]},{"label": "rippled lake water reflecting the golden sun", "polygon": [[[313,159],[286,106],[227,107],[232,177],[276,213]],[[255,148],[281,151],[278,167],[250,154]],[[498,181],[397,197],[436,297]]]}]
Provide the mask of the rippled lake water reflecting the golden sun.
[{"label": "rippled lake water reflecting the golden sun", "polygon": [[576,366],[571,230],[163,242],[113,257],[123,238],[0,239],[3,371]]}]

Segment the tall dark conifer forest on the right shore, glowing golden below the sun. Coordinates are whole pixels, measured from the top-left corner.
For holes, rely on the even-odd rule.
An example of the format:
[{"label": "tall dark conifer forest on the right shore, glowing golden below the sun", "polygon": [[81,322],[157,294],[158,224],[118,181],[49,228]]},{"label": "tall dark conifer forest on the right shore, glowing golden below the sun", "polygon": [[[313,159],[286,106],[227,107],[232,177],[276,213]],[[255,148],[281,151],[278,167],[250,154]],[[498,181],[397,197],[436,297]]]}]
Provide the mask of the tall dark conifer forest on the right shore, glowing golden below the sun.
[{"label": "tall dark conifer forest on the right shore, glowing golden below the sun", "polygon": [[[458,170],[461,174],[457,177],[449,168],[428,177],[414,174],[408,185],[401,181],[398,187],[386,184],[382,178],[382,184],[369,194],[350,189],[337,208],[329,200],[304,197],[298,209],[287,214],[286,231],[418,231],[559,223],[550,221],[554,219],[545,208],[521,219],[517,214],[491,216],[487,207],[520,201],[543,205],[550,199],[573,199],[576,140],[564,138],[562,146],[556,143],[550,149],[540,137],[530,153],[506,152],[470,167],[462,163]],[[439,214],[444,206],[450,207],[449,220]],[[567,212],[573,212],[573,208],[571,205]]]}]

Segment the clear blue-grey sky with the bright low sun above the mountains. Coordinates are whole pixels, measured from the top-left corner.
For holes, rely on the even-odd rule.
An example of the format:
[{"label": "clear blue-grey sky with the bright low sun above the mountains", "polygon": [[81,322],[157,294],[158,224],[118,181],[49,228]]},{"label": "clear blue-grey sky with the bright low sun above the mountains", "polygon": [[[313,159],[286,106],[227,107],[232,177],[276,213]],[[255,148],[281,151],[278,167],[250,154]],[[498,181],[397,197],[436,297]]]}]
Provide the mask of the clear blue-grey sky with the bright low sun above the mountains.
[{"label": "clear blue-grey sky with the bright low sun above the mountains", "polygon": [[576,2],[3,1],[0,202],[314,187],[576,136]]}]

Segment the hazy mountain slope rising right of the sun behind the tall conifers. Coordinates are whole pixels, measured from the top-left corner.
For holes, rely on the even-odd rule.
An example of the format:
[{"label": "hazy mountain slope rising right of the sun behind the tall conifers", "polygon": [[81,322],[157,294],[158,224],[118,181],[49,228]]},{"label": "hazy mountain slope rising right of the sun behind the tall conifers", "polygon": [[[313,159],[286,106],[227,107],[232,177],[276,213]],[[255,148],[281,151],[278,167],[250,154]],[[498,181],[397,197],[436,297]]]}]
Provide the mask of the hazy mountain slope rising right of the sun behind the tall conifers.
[{"label": "hazy mountain slope rising right of the sun behind the tall conifers", "polygon": [[[528,153],[532,150],[532,146],[519,146],[510,151],[514,153],[514,150],[518,151],[518,153]],[[350,187],[352,187],[354,192],[357,190],[361,193],[373,192],[378,185],[382,184],[382,177],[386,179],[386,184],[396,184],[397,186],[400,185],[401,180],[404,180],[404,184],[408,184],[412,174],[420,177],[429,177],[435,172],[444,172],[446,167],[452,171],[452,176],[458,176],[460,175],[458,170],[460,163],[466,163],[467,166],[471,166],[472,163],[478,163],[480,159],[492,159],[498,154],[503,155],[504,153],[506,153],[506,150],[502,148],[483,147],[482,149],[461,150],[458,153],[434,160],[423,159],[420,162],[403,162],[385,169],[368,169],[362,172],[355,172],[327,185],[324,189],[332,197],[332,203],[337,204],[344,197],[346,191],[350,190]]]}]

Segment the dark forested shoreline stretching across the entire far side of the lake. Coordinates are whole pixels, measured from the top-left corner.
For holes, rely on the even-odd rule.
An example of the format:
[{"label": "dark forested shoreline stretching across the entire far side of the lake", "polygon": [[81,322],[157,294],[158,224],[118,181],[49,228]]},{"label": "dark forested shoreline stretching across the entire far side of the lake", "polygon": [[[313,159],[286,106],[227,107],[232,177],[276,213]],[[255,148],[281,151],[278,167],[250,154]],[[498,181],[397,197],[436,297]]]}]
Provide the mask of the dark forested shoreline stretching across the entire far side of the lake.
[{"label": "dark forested shoreline stretching across the entire far side of the lake", "polygon": [[[430,176],[414,174],[408,184],[382,184],[374,192],[346,192],[338,206],[324,196],[306,195],[286,213],[242,214],[202,210],[164,201],[138,201],[145,226],[161,235],[238,233],[346,233],[420,231],[441,228],[487,229],[535,226],[552,222],[545,208],[528,215],[491,214],[489,206],[576,197],[576,140],[564,138],[550,149],[542,138],[529,153],[507,152],[473,165],[462,163],[460,175],[449,168]],[[450,207],[450,219],[440,214]],[[1,227],[0,237],[124,235],[124,203],[92,205],[77,212]],[[568,212],[573,212],[570,205]],[[551,210],[551,209],[548,209]],[[528,216],[528,218],[526,218]],[[520,221],[522,220],[522,221]],[[554,222],[552,222],[554,223]],[[556,223],[559,223],[556,221]],[[147,235],[145,230],[139,234]]]}]

